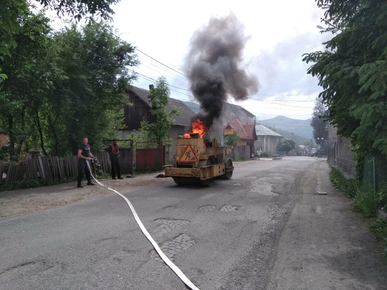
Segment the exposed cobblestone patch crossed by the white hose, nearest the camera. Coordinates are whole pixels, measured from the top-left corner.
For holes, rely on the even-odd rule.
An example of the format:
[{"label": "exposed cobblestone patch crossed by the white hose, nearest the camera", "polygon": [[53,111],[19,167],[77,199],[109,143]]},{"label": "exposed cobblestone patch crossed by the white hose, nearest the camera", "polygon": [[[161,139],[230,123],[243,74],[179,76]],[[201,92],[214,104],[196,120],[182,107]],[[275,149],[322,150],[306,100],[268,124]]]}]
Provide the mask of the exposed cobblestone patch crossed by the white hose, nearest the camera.
[{"label": "exposed cobblestone patch crossed by the white hose, nearest the camera", "polygon": [[[160,246],[160,249],[163,251],[165,256],[173,260],[173,258],[176,258],[176,256],[179,254],[182,254],[185,250],[194,246],[194,244],[196,244],[196,241],[192,240],[188,235],[180,234],[172,241],[164,242]],[[156,261],[162,261],[155,250],[151,251],[151,257]]]}]

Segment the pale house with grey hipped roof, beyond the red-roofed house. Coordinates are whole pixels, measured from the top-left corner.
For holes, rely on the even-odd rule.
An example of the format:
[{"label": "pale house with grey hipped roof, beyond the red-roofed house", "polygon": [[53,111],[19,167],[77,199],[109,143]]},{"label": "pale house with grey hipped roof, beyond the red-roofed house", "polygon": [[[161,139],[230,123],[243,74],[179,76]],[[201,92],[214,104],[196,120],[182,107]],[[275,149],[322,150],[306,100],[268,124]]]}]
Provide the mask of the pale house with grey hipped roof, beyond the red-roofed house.
[{"label": "pale house with grey hipped roof, beyond the red-roofed house", "polygon": [[268,152],[271,156],[279,155],[279,142],[284,136],[264,125],[255,125],[255,133],[257,135],[255,150]]}]

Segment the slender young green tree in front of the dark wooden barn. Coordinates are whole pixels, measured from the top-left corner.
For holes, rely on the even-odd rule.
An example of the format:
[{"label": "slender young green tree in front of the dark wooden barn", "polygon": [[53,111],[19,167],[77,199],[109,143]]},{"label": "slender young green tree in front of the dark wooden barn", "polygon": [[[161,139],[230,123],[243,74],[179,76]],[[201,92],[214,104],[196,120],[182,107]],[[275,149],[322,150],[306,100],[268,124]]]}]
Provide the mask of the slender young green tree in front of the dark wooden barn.
[{"label": "slender young green tree in front of the dark wooden barn", "polygon": [[173,106],[171,110],[167,110],[170,98],[170,89],[165,77],[159,77],[156,86],[151,89],[151,114],[154,117],[152,120],[141,121],[141,132],[147,142],[161,142],[166,146],[170,146],[173,142],[168,138],[171,126],[175,124],[173,116],[178,116],[182,111],[182,107]]}]

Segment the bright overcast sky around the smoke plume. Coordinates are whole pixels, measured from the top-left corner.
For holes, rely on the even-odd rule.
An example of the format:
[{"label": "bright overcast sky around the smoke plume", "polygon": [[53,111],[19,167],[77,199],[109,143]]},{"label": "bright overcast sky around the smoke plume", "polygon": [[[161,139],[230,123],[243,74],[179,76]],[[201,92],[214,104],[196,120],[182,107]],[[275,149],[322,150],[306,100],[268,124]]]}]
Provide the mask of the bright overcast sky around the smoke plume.
[{"label": "bright overcast sky around the smoke plume", "polygon": [[[135,71],[154,79],[164,75],[170,85],[182,89],[189,89],[189,81],[182,75],[181,68],[194,31],[207,24],[211,17],[234,13],[245,24],[245,34],[250,36],[243,66],[260,83],[257,94],[250,97],[265,100],[248,99],[238,104],[259,120],[278,115],[310,118],[313,101],[321,88],[316,77],[307,75],[309,65],[301,61],[302,55],[324,49],[322,43],[332,38],[332,34],[321,34],[316,27],[324,26],[320,22],[324,11],[313,0],[259,0],[255,3],[121,0],[113,10],[113,25],[120,37],[160,62],[139,53],[141,65]],[[134,83],[144,89],[148,89],[149,84],[140,77]],[[187,96],[191,95],[189,91],[171,89],[178,91],[172,90],[171,97],[195,101]]]}]

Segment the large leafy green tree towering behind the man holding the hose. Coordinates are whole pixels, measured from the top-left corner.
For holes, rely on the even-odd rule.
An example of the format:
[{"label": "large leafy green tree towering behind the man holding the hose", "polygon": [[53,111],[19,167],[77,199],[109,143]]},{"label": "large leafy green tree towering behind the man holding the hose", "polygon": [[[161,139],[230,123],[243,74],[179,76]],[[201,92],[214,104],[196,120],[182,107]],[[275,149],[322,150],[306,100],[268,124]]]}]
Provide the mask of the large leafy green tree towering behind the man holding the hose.
[{"label": "large leafy green tree towering behind the man holding the hose", "polygon": [[57,120],[50,132],[58,133],[61,154],[75,154],[82,136],[89,136],[94,150],[100,149],[102,140],[113,138],[123,128],[121,108],[128,104],[127,91],[136,78],[127,67],[138,61],[134,47],[109,31],[113,32],[112,26],[91,21],[81,29],[75,24],[65,27],[54,38],[55,63],[63,78],[47,101],[50,119]]}]

